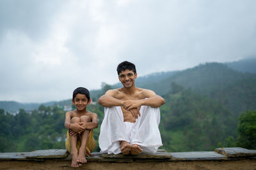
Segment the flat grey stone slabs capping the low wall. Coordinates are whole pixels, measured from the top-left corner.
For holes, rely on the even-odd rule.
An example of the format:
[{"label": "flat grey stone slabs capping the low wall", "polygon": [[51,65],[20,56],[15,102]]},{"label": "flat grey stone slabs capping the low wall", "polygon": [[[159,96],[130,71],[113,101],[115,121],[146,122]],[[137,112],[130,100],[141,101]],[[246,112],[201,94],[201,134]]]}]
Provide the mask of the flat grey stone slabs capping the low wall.
[{"label": "flat grey stone slabs capping the low wall", "polygon": [[[93,152],[92,157],[86,157],[88,162],[168,162],[177,160],[231,160],[231,159],[256,159],[256,150],[244,148],[217,148],[216,152],[166,152],[158,150],[157,153],[141,153],[140,155],[113,155]],[[36,160],[47,159],[71,160],[66,150],[36,150],[34,152],[0,153],[1,160]]]}]

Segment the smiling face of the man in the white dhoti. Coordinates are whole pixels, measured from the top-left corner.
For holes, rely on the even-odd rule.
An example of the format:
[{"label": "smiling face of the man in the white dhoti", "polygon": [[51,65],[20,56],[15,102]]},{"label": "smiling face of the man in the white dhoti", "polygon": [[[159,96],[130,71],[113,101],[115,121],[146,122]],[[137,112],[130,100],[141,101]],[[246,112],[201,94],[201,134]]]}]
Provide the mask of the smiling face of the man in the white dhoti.
[{"label": "smiling face of the man in the white dhoti", "polygon": [[118,78],[124,87],[129,88],[134,85],[134,81],[137,78],[137,73],[134,74],[132,70],[125,69],[125,71],[121,71]]}]

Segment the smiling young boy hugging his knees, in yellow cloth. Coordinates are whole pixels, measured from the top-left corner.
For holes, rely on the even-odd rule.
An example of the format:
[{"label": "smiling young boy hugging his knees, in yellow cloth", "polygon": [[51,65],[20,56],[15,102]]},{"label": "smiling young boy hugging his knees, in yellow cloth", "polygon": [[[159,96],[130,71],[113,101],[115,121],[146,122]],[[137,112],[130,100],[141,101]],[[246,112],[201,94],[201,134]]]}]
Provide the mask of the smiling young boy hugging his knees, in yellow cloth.
[{"label": "smiling young boy hugging his knees, in yellow cloth", "polygon": [[66,113],[65,127],[68,129],[66,150],[72,155],[72,167],[79,167],[86,163],[85,154],[91,154],[95,148],[93,129],[98,127],[96,113],[86,110],[90,99],[90,92],[84,87],[78,87],[73,92],[72,103],[76,110]]}]

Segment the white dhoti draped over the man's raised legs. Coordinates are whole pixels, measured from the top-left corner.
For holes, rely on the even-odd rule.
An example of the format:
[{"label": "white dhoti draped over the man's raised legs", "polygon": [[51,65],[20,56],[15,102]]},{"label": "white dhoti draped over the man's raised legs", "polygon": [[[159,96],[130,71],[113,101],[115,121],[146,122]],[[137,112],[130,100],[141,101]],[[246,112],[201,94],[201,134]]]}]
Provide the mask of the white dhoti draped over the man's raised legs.
[{"label": "white dhoti draped over the man's raised legs", "polygon": [[159,108],[141,106],[141,117],[135,123],[124,122],[120,106],[104,108],[104,119],[100,127],[99,146],[101,153],[121,153],[119,141],[139,145],[142,152],[157,152],[162,146],[158,129],[160,122]]}]

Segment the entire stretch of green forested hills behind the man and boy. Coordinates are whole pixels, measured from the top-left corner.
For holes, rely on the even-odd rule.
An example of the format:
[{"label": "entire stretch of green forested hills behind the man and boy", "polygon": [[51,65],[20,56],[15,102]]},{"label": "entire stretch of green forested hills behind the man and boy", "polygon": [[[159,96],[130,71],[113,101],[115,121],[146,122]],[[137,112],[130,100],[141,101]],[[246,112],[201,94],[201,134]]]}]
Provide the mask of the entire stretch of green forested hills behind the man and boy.
[{"label": "entire stretch of green forested hills behind the man and boy", "polygon": [[[94,101],[115,86],[102,83]],[[213,150],[218,146],[231,146],[230,143],[235,146],[236,139],[240,140],[236,146],[255,147],[248,145],[250,141],[243,141],[244,134],[238,136],[236,129],[241,113],[256,110],[256,74],[235,71],[225,64],[207,63],[184,71],[138,78],[136,86],[152,89],[164,97],[166,103],[160,108],[159,128],[162,148],[169,152]],[[13,115],[8,110],[0,110],[0,152],[65,148],[65,111],[60,107],[65,104],[70,104],[70,99],[41,105],[29,113],[20,110]],[[102,122],[102,106],[90,104],[88,110],[97,113],[99,123]],[[256,112],[252,114],[248,112],[250,117],[256,116]],[[239,128],[247,132],[246,123],[239,124]],[[95,129],[95,139],[99,131],[100,124]]]}]

